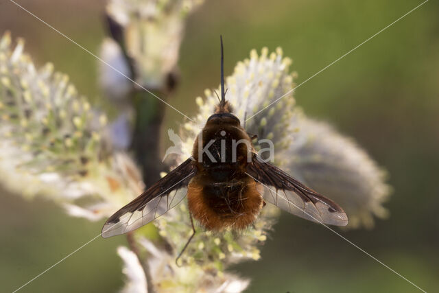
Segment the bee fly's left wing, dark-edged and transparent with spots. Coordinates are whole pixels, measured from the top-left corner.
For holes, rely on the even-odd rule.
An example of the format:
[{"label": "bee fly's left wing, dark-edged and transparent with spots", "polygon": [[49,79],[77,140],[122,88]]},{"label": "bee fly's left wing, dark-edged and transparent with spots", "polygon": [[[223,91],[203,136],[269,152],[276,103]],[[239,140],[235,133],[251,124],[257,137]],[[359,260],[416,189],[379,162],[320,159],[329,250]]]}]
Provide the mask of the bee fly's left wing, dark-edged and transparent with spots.
[{"label": "bee fly's left wing, dark-edged and transparent with spots", "polygon": [[189,158],[108,218],[102,227],[102,237],[133,231],[175,207],[185,198],[187,185],[195,173],[193,159]]}]

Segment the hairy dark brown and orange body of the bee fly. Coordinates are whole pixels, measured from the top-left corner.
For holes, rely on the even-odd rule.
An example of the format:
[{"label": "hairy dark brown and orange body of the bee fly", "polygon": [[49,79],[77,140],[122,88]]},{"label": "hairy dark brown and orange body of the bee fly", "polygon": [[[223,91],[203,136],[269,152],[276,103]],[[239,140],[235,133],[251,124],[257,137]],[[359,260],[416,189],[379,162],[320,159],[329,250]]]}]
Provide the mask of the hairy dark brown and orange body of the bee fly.
[{"label": "hairy dark brown and orange body of the bee fly", "polygon": [[251,154],[250,137],[229,113],[212,115],[195,140],[197,175],[187,199],[193,218],[206,229],[243,229],[256,220],[263,200],[246,174]]}]

